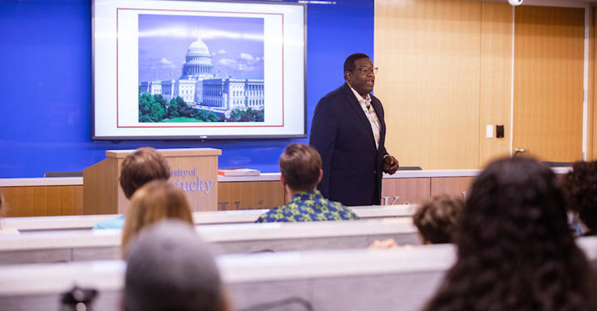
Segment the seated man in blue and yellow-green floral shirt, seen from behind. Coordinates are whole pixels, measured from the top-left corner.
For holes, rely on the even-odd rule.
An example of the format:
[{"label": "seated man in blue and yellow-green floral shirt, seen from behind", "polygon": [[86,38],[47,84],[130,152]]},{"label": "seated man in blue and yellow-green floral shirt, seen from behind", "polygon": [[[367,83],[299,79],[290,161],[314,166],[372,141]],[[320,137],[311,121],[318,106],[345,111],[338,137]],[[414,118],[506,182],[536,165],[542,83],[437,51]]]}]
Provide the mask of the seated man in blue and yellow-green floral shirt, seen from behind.
[{"label": "seated man in blue and yellow-green floral shirt, seen from behind", "polygon": [[288,204],[271,209],[256,222],[310,222],[317,220],[358,219],[341,203],[329,201],[315,189],[321,181],[321,157],[315,148],[290,144],[280,156],[280,181]]}]

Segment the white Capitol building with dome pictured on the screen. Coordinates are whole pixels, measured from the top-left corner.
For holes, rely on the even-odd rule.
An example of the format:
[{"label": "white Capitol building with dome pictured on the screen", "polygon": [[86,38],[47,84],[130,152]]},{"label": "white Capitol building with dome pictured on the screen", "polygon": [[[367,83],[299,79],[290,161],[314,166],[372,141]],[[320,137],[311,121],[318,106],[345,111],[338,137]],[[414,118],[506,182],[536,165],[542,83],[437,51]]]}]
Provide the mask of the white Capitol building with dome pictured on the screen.
[{"label": "white Capitol building with dome pictured on the screen", "polygon": [[140,83],[141,93],[161,94],[167,101],[181,97],[193,108],[223,113],[264,107],[263,79],[216,77],[210,50],[201,39],[191,43],[178,80]]}]

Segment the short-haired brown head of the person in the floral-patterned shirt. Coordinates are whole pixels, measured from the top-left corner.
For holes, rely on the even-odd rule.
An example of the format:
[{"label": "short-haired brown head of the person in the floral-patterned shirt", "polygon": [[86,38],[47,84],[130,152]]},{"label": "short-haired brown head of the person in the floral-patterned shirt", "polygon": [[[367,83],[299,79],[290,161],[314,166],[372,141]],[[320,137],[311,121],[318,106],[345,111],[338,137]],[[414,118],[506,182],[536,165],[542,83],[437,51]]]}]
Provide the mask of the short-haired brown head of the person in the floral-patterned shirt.
[{"label": "short-haired brown head of the person in the floral-patterned shirt", "polygon": [[321,173],[321,156],[309,145],[290,144],[280,155],[280,172],[290,189],[314,189]]}]

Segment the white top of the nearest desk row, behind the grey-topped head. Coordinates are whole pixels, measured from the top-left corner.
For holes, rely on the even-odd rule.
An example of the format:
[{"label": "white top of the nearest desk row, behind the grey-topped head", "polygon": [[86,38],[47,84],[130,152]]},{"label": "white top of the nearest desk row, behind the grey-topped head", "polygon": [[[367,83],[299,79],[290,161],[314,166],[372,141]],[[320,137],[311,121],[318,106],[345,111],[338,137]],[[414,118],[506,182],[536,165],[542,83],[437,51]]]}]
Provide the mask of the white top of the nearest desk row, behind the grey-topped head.
[{"label": "white top of the nearest desk row, behind the grey-topped head", "polygon": [[[224,282],[275,281],[445,270],[454,262],[450,244],[393,250],[296,251],[221,255],[217,265]],[[338,265],[338,263],[342,263]],[[115,290],[122,287],[126,263],[121,260],[0,266],[0,296],[56,292],[72,287]]]}]

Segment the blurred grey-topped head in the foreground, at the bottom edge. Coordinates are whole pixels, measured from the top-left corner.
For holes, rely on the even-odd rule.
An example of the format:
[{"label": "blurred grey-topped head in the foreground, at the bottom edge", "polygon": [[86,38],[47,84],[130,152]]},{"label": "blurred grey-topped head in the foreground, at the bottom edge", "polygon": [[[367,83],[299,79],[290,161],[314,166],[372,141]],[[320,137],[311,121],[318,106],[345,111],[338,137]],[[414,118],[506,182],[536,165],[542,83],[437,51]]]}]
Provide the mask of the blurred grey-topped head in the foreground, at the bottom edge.
[{"label": "blurred grey-topped head in the foreground, at the bottom edge", "polygon": [[186,223],[155,223],[131,242],[124,286],[126,310],[219,311],[224,305],[213,254]]}]

